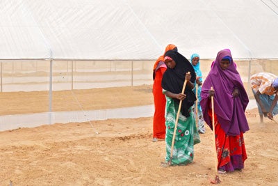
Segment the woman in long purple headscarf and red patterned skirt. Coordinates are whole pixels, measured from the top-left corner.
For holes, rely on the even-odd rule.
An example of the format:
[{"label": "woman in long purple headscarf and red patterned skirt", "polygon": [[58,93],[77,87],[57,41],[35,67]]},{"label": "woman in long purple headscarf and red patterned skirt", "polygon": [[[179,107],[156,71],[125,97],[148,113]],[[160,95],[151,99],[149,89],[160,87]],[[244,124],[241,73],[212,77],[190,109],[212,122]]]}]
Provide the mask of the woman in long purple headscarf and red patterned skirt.
[{"label": "woman in long purple headscarf and red patterned skirt", "polygon": [[[211,130],[215,125],[218,173],[241,171],[247,159],[243,134],[250,130],[245,116],[249,98],[229,50],[218,52],[215,63],[203,82],[201,96],[204,121]],[[215,123],[212,123],[212,117]]]}]

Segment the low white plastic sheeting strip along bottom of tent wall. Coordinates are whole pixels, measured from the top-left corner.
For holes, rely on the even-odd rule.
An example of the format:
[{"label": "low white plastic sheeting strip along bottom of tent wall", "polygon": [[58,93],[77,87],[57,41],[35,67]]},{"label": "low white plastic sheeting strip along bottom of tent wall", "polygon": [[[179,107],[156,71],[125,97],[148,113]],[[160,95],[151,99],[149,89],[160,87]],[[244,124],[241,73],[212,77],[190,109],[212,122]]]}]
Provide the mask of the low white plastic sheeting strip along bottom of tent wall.
[{"label": "low white plastic sheeting strip along bottom of tent wall", "polygon": [[[247,109],[256,108],[256,101],[250,100]],[[154,105],[120,109],[104,109],[92,111],[56,111],[37,114],[17,114],[0,116],[0,131],[14,130],[18,127],[37,127],[45,124],[72,123],[106,120],[108,118],[140,118],[154,116]],[[95,132],[97,129],[90,123]]]}]

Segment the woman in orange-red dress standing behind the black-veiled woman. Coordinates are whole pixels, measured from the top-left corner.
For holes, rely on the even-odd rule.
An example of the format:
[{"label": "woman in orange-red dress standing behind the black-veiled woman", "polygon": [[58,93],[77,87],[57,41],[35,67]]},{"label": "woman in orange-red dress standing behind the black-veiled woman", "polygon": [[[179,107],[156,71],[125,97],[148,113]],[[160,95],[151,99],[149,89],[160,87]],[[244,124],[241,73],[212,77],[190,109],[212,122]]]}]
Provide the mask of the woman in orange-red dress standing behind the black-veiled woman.
[{"label": "woman in orange-red dress standing behind the black-veiled woman", "polygon": [[[177,51],[175,45],[167,45],[164,54],[173,49]],[[162,93],[161,81],[163,73],[167,69],[164,63],[164,54],[160,56],[156,63],[154,63],[153,79],[154,84],[152,88],[152,93],[154,95],[154,119],[153,119],[153,139],[156,142],[158,139],[165,139],[165,95]]]}]

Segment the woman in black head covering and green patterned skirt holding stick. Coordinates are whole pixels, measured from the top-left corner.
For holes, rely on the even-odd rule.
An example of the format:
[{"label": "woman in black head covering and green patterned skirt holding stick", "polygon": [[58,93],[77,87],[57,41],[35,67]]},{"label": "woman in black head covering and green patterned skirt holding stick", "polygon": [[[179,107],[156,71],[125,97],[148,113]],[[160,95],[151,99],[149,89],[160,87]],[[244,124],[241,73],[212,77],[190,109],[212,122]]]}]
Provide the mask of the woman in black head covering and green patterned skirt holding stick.
[{"label": "woman in black head covering and green patterned skirt holding stick", "polygon": [[[196,100],[192,91],[195,82],[195,71],[188,59],[174,50],[165,54],[165,64],[167,70],[162,79],[163,93],[166,97],[165,125],[166,125],[166,157],[163,164],[177,165],[189,164],[193,162],[194,145],[200,142],[199,133],[193,118],[192,106]],[[190,72],[189,74],[186,74]],[[182,93],[183,84],[187,79],[184,94]],[[181,109],[179,112],[179,102]],[[174,127],[179,112],[177,130],[174,137]],[[174,146],[172,148],[172,139]],[[171,156],[171,148],[172,157]]]}]

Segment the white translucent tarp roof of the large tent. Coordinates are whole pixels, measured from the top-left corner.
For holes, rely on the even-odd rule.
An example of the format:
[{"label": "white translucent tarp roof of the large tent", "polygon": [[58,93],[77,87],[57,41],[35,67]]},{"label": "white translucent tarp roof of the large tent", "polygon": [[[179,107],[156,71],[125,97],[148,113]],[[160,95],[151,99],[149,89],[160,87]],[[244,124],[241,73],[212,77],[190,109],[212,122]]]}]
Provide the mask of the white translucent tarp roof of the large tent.
[{"label": "white translucent tarp roof of the large tent", "polygon": [[0,59],[278,59],[277,0],[1,0]]}]

